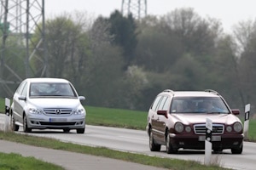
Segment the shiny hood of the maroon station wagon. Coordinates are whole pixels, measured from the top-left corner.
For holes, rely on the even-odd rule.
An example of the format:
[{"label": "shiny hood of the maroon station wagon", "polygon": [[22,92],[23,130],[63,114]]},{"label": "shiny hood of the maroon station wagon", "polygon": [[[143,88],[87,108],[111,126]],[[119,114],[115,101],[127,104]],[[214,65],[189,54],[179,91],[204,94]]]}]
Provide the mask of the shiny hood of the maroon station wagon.
[{"label": "shiny hood of the maroon station wagon", "polygon": [[212,123],[232,124],[241,122],[237,116],[232,114],[172,114],[175,122],[183,124],[206,123],[206,119],[212,120]]}]

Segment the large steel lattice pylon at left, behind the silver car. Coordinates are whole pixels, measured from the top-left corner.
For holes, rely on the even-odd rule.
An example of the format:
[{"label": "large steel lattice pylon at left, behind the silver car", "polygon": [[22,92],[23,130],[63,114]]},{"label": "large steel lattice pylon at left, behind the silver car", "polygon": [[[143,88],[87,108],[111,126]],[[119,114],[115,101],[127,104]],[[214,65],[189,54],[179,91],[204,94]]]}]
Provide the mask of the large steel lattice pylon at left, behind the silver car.
[{"label": "large steel lattice pylon at left, behind the silver car", "polygon": [[[32,38],[34,31],[40,37]],[[7,95],[13,94],[9,85],[33,77],[30,61],[38,53],[44,54],[40,76],[46,76],[47,59],[44,41],[44,0],[0,0],[0,84]],[[15,70],[15,65],[6,59],[21,59],[24,62],[25,76]],[[15,59],[14,59],[15,58]],[[3,92],[0,92],[0,96]]]}]

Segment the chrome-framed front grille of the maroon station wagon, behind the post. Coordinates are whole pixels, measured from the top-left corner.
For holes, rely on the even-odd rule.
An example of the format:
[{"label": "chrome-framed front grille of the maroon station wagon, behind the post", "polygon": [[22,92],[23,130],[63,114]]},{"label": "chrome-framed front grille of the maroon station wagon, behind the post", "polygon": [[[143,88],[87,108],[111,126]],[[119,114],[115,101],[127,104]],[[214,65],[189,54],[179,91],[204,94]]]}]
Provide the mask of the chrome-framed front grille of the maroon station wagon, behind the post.
[{"label": "chrome-framed front grille of the maroon station wagon, behind the post", "polygon": [[[196,124],[194,125],[195,134],[206,134],[206,124]],[[223,134],[224,125],[223,124],[212,124],[212,134]]]}]

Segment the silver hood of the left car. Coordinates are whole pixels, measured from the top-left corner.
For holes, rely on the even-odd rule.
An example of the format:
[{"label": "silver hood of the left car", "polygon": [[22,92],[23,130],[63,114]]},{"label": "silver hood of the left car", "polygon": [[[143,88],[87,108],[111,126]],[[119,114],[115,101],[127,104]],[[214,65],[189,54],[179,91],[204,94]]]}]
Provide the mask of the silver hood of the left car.
[{"label": "silver hood of the left car", "polygon": [[34,105],[40,108],[61,108],[61,107],[70,107],[74,108],[80,105],[79,99],[71,98],[37,98],[29,99],[28,104]]}]

